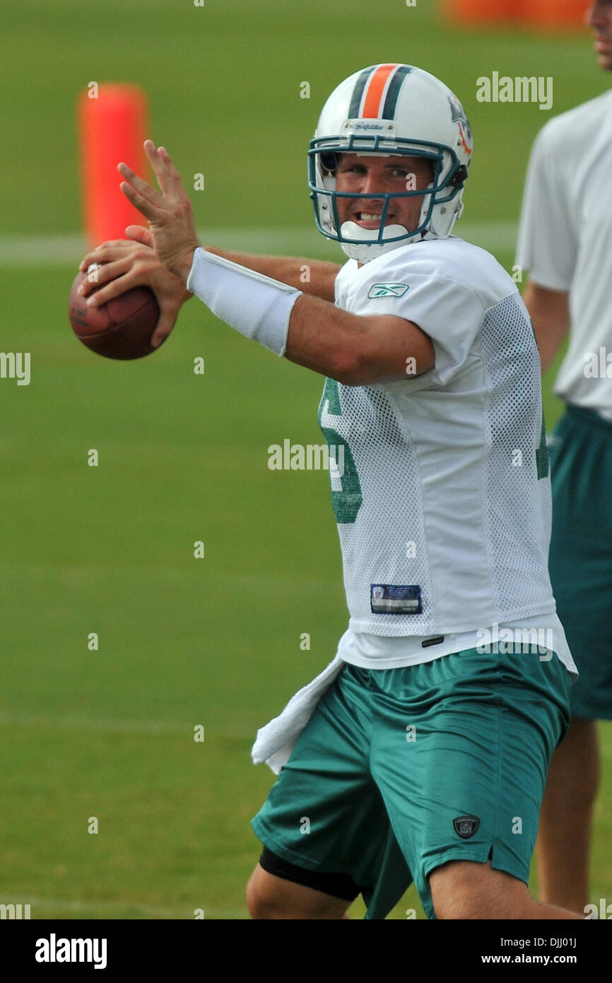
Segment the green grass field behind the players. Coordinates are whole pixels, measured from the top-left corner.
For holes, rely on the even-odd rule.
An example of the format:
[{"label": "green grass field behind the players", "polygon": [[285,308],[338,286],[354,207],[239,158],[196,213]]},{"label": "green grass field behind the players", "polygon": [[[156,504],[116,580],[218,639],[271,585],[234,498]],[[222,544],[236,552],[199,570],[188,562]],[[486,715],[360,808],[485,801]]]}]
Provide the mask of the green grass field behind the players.
[{"label": "green grass field behind the players", "polygon": [[[318,108],[362,65],[421,65],[468,108],[466,228],[492,236],[510,269],[503,228],[550,114],[477,103],[476,78],[552,75],[554,114],[606,79],[585,32],[460,31],[433,6],[23,0],[3,11],[2,348],[31,353],[31,382],[0,379],[0,901],[30,902],[32,918],[246,918],[249,821],[273,779],[251,765],[250,744],[333,657],[347,619],[326,474],[267,468],[271,443],[320,442],[322,379],[196,300],[151,358],[97,358],[67,320],[76,262],[53,247],[18,259],[21,237],[35,251],[37,237],[79,233],[77,95],[90,80],[146,89],[153,139],[185,175],[205,175],[194,195],[204,234],[256,249],[240,230],[262,230],[264,251],[267,230],[288,252],[304,239],[300,253],[341,258],[312,232]],[[601,735],[593,899],[612,890],[612,725]],[[391,917],[409,907],[423,917],[414,891]]]}]

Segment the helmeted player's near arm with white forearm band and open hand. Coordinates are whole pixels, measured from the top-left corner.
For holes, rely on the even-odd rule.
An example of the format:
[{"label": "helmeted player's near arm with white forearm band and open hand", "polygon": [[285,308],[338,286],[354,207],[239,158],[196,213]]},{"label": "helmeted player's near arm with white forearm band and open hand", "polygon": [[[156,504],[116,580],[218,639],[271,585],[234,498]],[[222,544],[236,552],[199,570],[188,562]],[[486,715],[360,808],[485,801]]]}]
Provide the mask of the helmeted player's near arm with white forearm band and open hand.
[{"label": "helmeted player's near arm with white forearm band and open hand", "polygon": [[[405,379],[433,367],[431,340],[410,320],[350,314],[261,270],[218,253],[207,255],[197,241],[192,204],[168,152],[152,141],[145,141],[144,149],[160,191],[125,163],[118,167],[124,178],[121,190],[148,219],[146,234],[157,260],[218,318],[278,355],[347,385]],[[132,237],[135,231],[140,235],[142,230],[126,230]],[[89,305],[98,303],[104,303],[101,290],[87,299]],[[410,373],[409,359],[415,360]]]}]

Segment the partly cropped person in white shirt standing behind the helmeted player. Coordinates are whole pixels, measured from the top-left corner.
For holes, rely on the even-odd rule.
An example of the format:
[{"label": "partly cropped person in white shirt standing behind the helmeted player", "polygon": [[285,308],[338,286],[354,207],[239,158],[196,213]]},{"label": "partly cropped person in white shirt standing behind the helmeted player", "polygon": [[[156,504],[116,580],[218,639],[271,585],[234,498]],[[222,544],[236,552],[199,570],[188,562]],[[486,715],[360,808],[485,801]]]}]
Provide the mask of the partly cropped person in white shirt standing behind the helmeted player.
[{"label": "partly cropped person in white shirt standing behind the helmeted player", "polygon": [[[591,4],[599,66],[612,71],[612,2]],[[541,896],[578,911],[588,901],[598,720],[612,720],[612,92],[551,120],[529,162],[517,262],[547,369],[569,333],[555,382],[567,409],[551,438],[550,576],[580,670],[572,723],[553,757],[537,856]],[[571,325],[571,326],[570,326]]]}]

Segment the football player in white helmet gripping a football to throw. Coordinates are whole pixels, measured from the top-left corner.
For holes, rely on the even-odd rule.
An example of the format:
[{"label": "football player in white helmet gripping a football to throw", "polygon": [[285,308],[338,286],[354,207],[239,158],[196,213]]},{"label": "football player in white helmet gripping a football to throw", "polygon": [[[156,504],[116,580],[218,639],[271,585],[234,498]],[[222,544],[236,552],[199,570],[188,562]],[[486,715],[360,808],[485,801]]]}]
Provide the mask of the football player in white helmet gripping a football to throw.
[{"label": "football player in white helmet gripping a football to throw", "polygon": [[[547,571],[529,316],[496,260],[451,236],[473,154],[461,103],[401,64],[332,92],[309,188],[349,259],[306,260],[308,284],[305,260],[201,248],[168,153],[145,148],[160,191],[120,165],[150,228],[129,234],[217,317],[325,376],[320,426],[344,450],[330,482],[351,616],[259,733],[280,777],[253,820],[251,915],[343,918],[362,894],[384,918],[414,879],[429,917],[580,917],[527,886],[576,668]],[[113,261],[101,273],[133,286]]]}]

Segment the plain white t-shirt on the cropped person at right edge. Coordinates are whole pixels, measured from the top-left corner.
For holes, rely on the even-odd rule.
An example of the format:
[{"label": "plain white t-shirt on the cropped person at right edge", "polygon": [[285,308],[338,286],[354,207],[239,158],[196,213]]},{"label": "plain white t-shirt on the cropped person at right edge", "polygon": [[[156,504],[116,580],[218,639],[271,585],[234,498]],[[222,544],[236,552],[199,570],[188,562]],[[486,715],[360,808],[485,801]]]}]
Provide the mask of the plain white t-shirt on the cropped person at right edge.
[{"label": "plain white t-shirt on the cropped person at right edge", "polygon": [[612,91],[538,134],[516,261],[539,286],[570,292],[572,331],[555,392],[612,420]]}]

